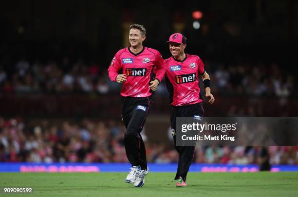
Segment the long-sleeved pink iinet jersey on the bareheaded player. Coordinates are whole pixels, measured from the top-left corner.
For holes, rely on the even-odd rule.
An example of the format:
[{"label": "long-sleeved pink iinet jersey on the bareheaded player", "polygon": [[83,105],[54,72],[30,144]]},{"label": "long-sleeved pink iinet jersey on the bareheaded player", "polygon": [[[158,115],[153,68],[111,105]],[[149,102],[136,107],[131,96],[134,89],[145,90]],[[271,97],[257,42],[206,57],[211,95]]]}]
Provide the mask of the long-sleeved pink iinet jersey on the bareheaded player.
[{"label": "long-sleeved pink iinet jersey on the bareheaded player", "polygon": [[154,79],[153,73],[156,74],[155,79],[161,82],[166,72],[161,54],[148,47],[143,47],[138,54],[133,54],[129,47],[119,50],[108,69],[112,81],[116,81],[121,69],[121,73],[126,75],[127,81],[123,83],[120,95],[125,97],[150,96],[149,82]]}]

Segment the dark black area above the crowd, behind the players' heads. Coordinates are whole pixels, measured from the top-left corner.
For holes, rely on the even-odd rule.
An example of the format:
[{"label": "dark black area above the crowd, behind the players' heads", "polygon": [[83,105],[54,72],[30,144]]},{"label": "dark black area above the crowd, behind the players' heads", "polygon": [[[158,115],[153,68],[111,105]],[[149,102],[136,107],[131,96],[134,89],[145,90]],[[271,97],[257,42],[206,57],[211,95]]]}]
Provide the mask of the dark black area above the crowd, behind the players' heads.
[{"label": "dark black area above the crowd, behind the players' heads", "polygon": [[[37,56],[47,61],[67,55],[106,68],[113,54],[126,47],[125,22],[143,24],[144,45],[165,57],[169,56],[165,41],[174,24],[183,23],[187,53],[199,54],[203,60],[274,61],[295,69],[297,9],[296,0],[4,1],[0,54],[5,66],[23,55],[31,61]],[[199,30],[192,28],[194,10],[203,12]]]}]

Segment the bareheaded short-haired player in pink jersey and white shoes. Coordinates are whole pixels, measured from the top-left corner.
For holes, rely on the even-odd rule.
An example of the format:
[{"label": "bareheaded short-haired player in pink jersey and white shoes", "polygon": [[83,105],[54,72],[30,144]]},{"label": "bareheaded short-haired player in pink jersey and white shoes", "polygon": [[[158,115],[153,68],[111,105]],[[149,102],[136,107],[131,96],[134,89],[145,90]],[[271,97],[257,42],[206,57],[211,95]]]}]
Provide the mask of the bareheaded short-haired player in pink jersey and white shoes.
[{"label": "bareheaded short-haired player in pink jersey and white shoes", "polygon": [[161,54],[154,49],[143,47],[145,38],[146,30],[142,25],[130,25],[130,46],[115,54],[108,69],[110,79],[123,84],[120,92],[121,116],[126,127],[126,155],[131,163],[126,182],[134,183],[135,187],[144,185],[145,175],[149,171],[140,133],[152,103],[152,93],[166,72]]}]

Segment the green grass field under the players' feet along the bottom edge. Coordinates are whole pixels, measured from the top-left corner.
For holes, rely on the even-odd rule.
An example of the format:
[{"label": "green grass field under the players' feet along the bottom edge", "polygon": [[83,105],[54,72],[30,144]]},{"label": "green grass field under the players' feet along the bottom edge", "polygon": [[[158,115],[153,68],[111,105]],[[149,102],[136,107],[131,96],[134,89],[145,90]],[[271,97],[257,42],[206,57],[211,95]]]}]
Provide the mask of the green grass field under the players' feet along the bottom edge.
[{"label": "green grass field under the players' feet along the bottom edge", "polygon": [[186,188],[175,187],[175,181],[172,180],[174,173],[149,173],[141,188],[125,183],[126,175],[127,173],[0,173],[0,187],[33,187],[33,196],[40,197],[298,197],[296,172],[189,173]]}]

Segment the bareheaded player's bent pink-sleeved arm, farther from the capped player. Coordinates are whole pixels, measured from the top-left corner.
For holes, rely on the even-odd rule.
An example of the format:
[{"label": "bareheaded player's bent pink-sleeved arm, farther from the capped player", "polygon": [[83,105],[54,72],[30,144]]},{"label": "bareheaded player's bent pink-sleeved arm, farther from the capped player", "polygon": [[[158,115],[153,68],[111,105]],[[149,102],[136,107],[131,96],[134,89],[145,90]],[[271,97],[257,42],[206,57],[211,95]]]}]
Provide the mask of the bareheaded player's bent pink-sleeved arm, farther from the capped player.
[{"label": "bareheaded player's bent pink-sleeved arm, farther from the capped player", "polygon": [[117,83],[123,83],[127,81],[125,74],[118,74],[118,72],[121,69],[121,63],[120,63],[120,57],[119,57],[119,52],[118,51],[115,56],[112,59],[112,62],[109,66],[108,73],[109,73],[109,78],[111,81],[117,82]]}]

